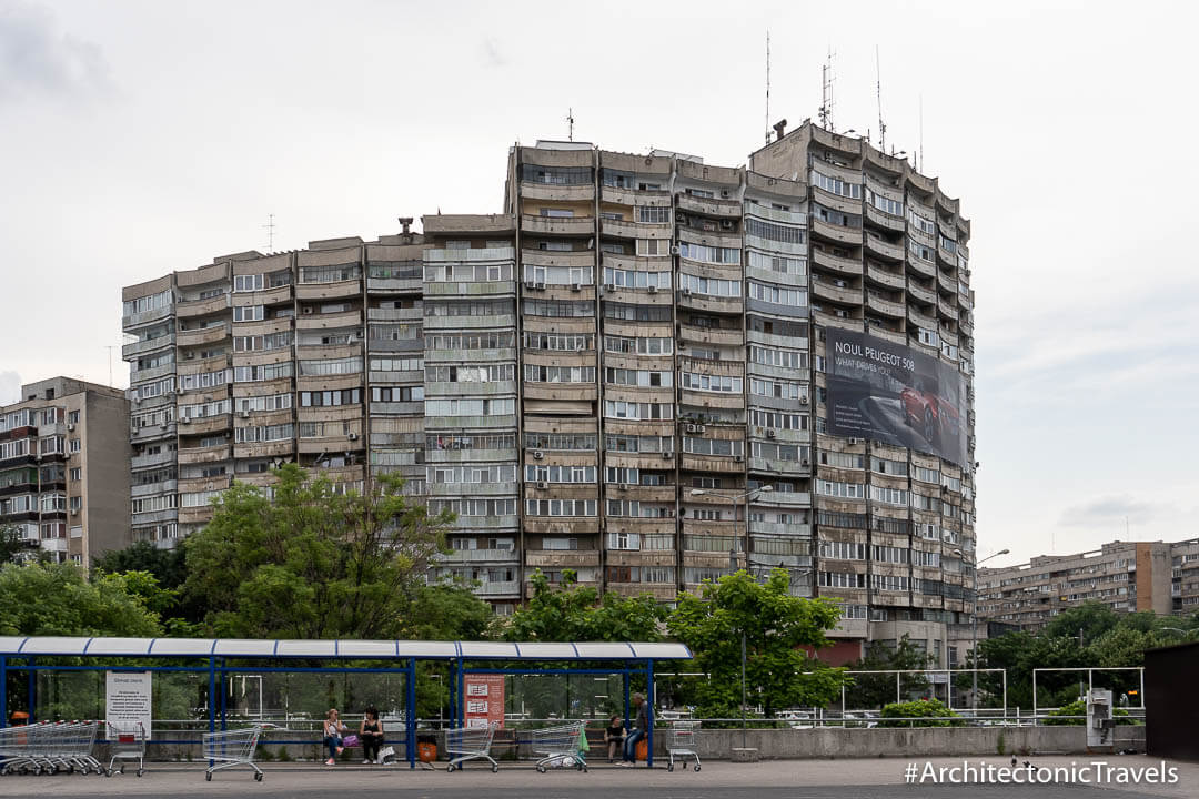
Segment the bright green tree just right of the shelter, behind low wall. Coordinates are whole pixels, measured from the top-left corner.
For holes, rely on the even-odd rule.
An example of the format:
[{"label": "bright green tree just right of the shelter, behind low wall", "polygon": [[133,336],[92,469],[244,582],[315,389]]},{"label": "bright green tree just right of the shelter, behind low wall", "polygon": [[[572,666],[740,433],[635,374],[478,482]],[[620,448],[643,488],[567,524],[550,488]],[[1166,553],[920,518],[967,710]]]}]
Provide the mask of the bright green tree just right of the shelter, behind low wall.
[{"label": "bright green tree just right of the shelter, behind low wall", "polygon": [[791,597],[788,583],[783,569],[775,569],[765,585],[742,570],[704,583],[699,597],[679,595],[667,628],[709,674],[697,685],[701,715],[733,718],[739,712],[742,635],[748,702],[760,704],[767,718],[788,707],[827,704],[839,695],[845,670],[826,666],[802,647],[829,646],[824,634],[840,612],[825,599]]}]

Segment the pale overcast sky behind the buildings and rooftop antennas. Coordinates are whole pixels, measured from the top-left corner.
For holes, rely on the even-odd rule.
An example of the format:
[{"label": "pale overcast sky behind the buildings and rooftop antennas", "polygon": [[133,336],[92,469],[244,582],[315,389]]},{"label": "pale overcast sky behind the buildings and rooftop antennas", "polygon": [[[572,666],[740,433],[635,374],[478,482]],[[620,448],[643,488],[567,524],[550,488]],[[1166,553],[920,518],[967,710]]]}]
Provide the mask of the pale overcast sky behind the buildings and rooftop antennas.
[{"label": "pale overcast sky behind the buildings and rooftop antennas", "polygon": [[[566,137],[740,165],[771,121],[887,140],[962,198],[980,556],[1195,537],[1192,4],[0,0],[0,401],[109,380],[120,287],[500,208]],[[114,356],[113,381],[128,383]],[[1126,532],[1127,531],[1127,532]]]}]

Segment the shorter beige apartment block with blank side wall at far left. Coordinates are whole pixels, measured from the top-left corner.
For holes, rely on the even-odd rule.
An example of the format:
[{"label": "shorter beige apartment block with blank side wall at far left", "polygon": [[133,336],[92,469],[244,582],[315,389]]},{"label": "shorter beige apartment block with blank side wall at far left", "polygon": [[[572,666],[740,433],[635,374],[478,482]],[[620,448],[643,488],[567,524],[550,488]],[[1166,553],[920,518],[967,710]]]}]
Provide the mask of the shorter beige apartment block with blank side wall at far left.
[{"label": "shorter beige apartment block with blank side wall at far left", "polygon": [[0,525],[24,557],[90,564],[129,544],[128,400],[71,377],[22,386],[0,407]]}]

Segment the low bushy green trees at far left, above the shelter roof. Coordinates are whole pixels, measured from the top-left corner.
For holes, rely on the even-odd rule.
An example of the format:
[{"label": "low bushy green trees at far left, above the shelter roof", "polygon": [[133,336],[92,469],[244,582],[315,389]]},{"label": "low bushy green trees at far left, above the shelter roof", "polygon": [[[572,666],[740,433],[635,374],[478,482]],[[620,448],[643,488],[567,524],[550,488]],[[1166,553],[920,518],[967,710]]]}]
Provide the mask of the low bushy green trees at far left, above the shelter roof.
[{"label": "low bushy green trees at far left, above the shelter roof", "polygon": [[[140,586],[150,587],[145,581]],[[0,635],[161,634],[157,613],[125,575],[89,582],[71,563],[0,567]]]}]

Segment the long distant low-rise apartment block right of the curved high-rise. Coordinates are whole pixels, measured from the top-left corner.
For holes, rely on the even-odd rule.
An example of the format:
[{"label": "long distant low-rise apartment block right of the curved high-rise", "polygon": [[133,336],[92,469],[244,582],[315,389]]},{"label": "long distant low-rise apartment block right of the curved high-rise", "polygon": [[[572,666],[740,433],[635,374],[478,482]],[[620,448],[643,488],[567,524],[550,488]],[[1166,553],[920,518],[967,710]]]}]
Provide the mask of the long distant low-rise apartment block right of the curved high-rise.
[{"label": "long distant low-rise apartment block right of the curved high-rise", "polygon": [[[1089,552],[1043,555],[1018,565],[982,568],[978,615],[1026,630],[1044,627],[1067,607],[1091,601],[1119,612],[1167,615],[1182,609],[1183,565],[1192,575],[1199,574],[1194,541],[1111,541]],[[1199,585],[1192,587],[1199,594]]]}]

